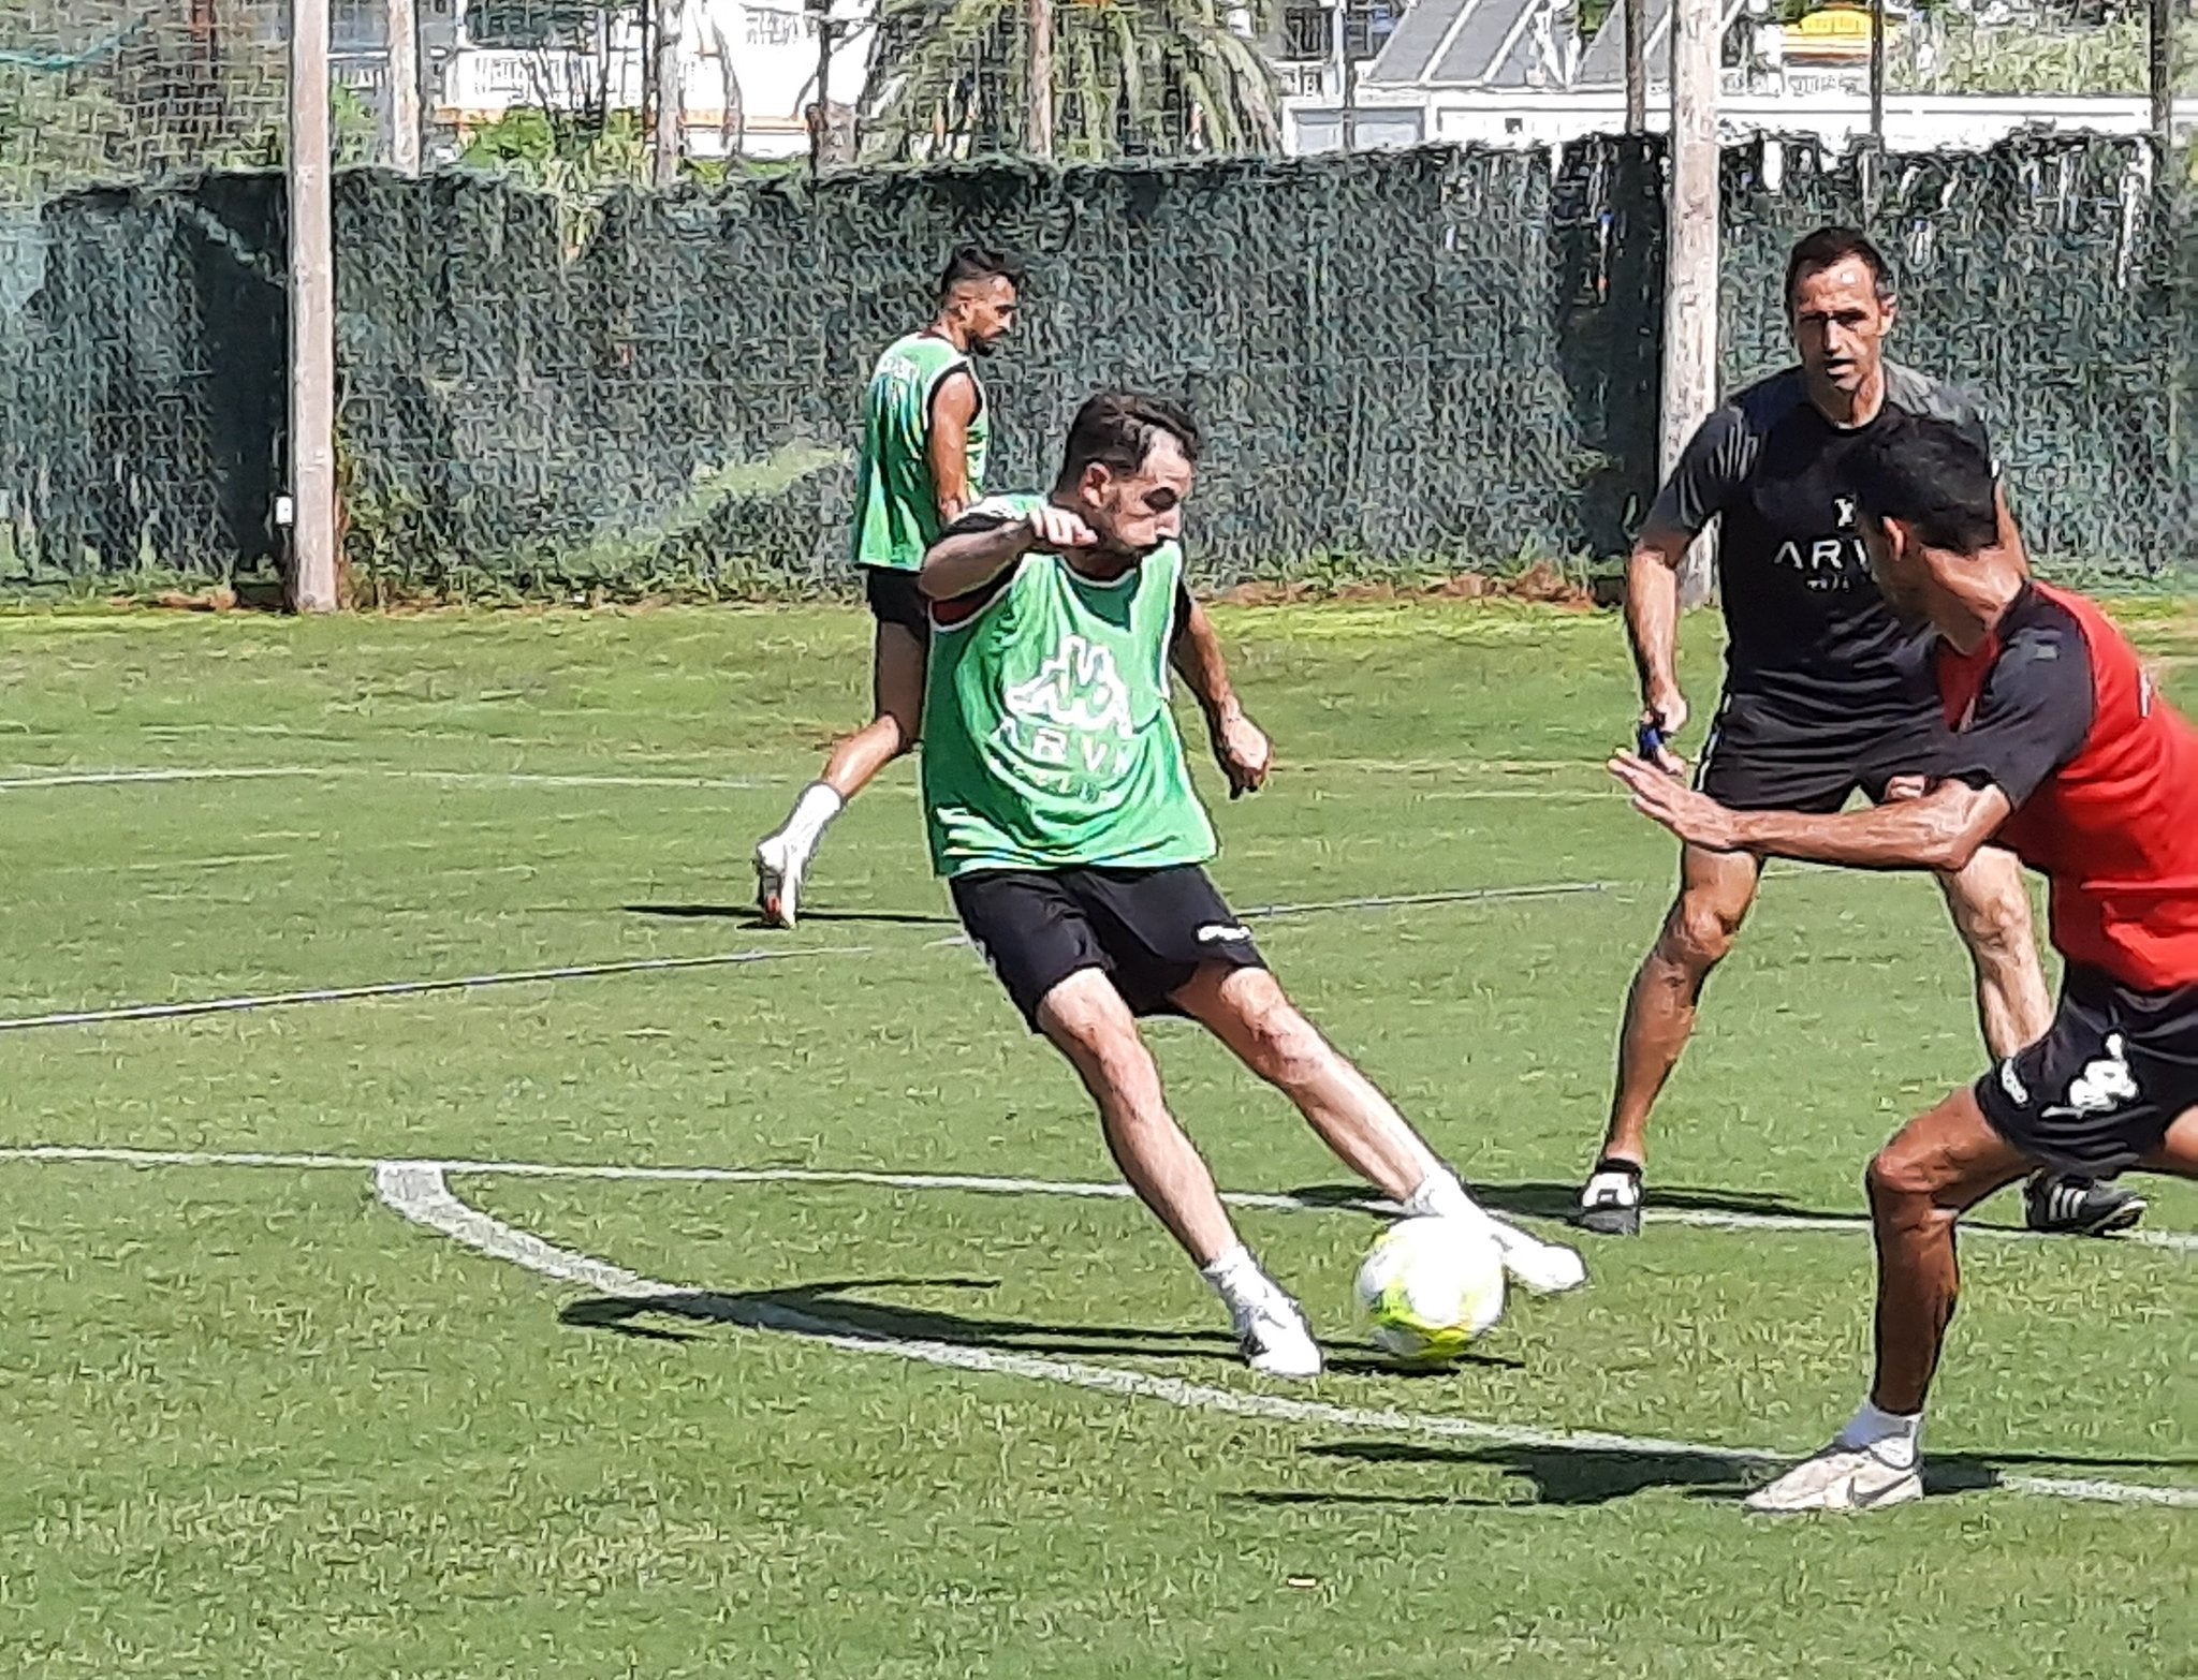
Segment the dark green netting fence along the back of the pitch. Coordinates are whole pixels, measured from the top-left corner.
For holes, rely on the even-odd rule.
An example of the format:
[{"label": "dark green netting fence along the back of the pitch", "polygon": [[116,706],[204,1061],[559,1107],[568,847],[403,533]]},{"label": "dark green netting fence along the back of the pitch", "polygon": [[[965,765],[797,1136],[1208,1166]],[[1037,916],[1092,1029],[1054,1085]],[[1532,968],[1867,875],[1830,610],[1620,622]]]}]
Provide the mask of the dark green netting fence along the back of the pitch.
[{"label": "dark green netting fence along the back of the pitch", "polygon": [[[2000,437],[2062,571],[2187,564],[2198,259],[2141,143],[1728,152],[1728,382],[1787,358],[1787,244],[1877,231],[1901,356]],[[963,237],[1031,257],[985,369],[996,485],[1099,384],[1187,397],[1213,582],[1613,556],[1653,483],[1653,141],[1308,160],[1013,163],[560,202],[486,176],[336,189],[345,553],[380,593],[844,582],[875,351]],[[46,202],[0,296],[0,586],[275,564],[279,176]]]}]

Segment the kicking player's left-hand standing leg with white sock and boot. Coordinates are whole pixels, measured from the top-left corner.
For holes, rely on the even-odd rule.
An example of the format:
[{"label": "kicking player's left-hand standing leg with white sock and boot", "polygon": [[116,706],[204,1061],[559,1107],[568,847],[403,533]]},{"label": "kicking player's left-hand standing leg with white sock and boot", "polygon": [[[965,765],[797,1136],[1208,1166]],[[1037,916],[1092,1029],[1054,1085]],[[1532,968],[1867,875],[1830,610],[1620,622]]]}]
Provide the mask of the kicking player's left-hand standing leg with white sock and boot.
[{"label": "kicking player's left-hand standing leg with white sock and boot", "polygon": [[1319,1375],[1321,1353],[1303,1313],[1229,1223],[1213,1173],[1167,1111],[1161,1069],[1114,982],[1099,968],[1070,975],[1037,1006],[1037,1028],[1099,1105],[1099,1129],[1123,1179],[1229,1307],[1253,1368],[1270,1377]]}]

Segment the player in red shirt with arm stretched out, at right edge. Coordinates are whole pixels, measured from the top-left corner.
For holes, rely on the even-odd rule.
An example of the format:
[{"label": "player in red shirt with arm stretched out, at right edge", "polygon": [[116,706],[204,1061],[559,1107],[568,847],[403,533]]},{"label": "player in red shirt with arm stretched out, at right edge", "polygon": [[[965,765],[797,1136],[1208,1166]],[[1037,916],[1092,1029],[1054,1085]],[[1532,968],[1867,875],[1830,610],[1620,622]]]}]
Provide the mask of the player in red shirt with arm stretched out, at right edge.
[{"label": "player in red shirt with arm stretched out, at right edge", "polygon": [[[1638,810],[1723,852],[1958,870],[1985,841],[2053,887],[2060,1010],[2044,1039],[1910,1120],[1870,1162],[1877,1377],[1816,1458],[1747,1504],[1844,1511],[1923,1491],[1923,1399],[1954,1315],[1954,1221],[2038,1166],[2198,1177],[2198,731],[2082,595],[1998,542],[1991,468],[1956,428],[1901,419],[1855,463],[1870,569],[1928,621],[1945,762],[1875,810],[1728,810],[1622,753]],[[1921,775],[1930,771],[1930,777]]]}]

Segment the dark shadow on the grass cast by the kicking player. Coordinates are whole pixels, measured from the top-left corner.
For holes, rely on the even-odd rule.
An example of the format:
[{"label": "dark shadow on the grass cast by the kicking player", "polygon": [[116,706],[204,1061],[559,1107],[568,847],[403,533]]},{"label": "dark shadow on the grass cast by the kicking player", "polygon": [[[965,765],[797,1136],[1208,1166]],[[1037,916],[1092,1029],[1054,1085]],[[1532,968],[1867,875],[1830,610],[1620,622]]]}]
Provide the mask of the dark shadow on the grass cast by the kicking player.
[{"label": "dark shadow on the grass cast by the kicking player", "polygon": [[[868,1289],[998,1289],[983,1278],[842,1278],[789,1289],[712,1291],[668,1296],[596,1296],[576,1300],[558,1320],[578,1329],[613,1331],[651,1342],[692,1342],[692,1331],[664,1329],[642,1320],[668,1318],[688,1324],[739,1324],[793,1335],[844,1335],[862,1342],[941,1342],[991,1353],[1051,1357],[1136,1359],[1235,1359],[1237,1346],[1220,1331],[1156,1331],[1121,1324],[1031,1324],[1013,1318],[976,1318],[936,1307],[903,1307],[855,1300]],[[1468,1355],[1475,1364],[1517,1370],[1517,1359]],[[1328,1362],[1336,1373],[1405,1375],[1374,1355],[1343,1353]],[[1440,1375],[1440,1373],[1429,1373]]]}]

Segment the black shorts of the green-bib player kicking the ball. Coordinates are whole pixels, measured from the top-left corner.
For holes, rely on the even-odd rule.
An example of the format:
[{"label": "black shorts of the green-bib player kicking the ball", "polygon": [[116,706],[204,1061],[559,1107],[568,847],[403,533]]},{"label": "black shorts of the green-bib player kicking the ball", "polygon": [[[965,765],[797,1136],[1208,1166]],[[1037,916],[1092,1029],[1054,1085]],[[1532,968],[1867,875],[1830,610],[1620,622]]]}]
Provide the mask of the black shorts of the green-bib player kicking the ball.
[{"label": "black shorts of the green-bib player kicking the ball", "polygon": [[1101,968],[1132,1015],[1169,1001],[1200,964],[1264,968],[1251,933],[1196,863],[1167,870],[985,870],[947,883],[963,927],[1037,1030],[1068,975]]}]

